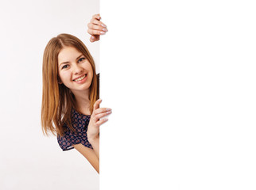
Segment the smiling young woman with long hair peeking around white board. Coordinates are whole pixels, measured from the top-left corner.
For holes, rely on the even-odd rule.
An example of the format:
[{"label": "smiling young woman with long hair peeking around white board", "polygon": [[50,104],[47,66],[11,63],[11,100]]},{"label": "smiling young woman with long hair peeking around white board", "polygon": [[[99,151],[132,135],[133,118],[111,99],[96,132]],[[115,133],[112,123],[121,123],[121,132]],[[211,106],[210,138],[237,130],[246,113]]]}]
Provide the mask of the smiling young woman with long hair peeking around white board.
[{"label": "smiling young woman with long hair peeking around white board", "polygon": [[[88,24],[91,42],[107,32],[99,14]],[[95,63],[76,36],[60,34],[45,47],[41,125],[57,135],[62,150],[78,150],[99,173],[99,126],[111,108],[99,108]]]}]

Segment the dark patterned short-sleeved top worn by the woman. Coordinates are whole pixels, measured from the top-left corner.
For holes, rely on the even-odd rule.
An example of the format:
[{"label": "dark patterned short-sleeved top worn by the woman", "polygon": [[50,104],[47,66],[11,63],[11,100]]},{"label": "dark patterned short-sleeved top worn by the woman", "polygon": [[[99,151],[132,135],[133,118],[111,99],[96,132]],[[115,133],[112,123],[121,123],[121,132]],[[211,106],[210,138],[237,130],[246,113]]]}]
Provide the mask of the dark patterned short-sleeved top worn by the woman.
[{"label": "dark patterned short-sleeved top worn by the woman", "polygon": [[73,144],[82,144],[92,149],[90,142],[87,139],[87,126],[90,121],[90,116],[81,116],[79,114],[73,115],[72,126],[75,131],[72,131],[66,124],[64,124],[67,130],[63,136],[58,135],[57,140],[62,150],[71,150],[74,147]]}]

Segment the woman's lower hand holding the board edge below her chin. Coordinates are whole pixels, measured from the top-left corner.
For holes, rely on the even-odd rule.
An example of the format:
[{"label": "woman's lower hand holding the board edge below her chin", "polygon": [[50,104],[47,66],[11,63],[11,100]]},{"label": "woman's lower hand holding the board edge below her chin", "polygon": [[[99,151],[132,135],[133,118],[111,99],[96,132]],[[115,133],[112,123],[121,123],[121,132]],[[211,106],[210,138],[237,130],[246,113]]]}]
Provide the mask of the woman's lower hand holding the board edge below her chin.
[{"label": "woman's lower hand holding the board edge below her chin", "polygon": [[107,122],[107,118],[103,117],[111,114],[111,108],[99,108],[101,101],[101,99],[95,101],[90,123],[88,124],[87,138],[89,142],[90,139],[99,138],[99,126]]}]

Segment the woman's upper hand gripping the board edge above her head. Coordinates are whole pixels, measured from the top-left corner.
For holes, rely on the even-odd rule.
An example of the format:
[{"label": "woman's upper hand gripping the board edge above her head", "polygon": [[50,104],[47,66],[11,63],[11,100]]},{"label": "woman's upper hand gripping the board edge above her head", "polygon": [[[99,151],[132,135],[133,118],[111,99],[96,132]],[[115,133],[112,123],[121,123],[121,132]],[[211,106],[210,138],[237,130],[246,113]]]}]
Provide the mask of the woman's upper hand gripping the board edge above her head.
[{"label": "woman's upper hand gripping the board edge above her head", "polygon": [[92,16],[90,23],[88,23],[87,32],[91,34],[90,41],[95,42],[99,40],[100,35],[104,35],[107,30],[107,25],[104,25],[102,21],[100,21],[101,17],[99,14],[95,14]]}]

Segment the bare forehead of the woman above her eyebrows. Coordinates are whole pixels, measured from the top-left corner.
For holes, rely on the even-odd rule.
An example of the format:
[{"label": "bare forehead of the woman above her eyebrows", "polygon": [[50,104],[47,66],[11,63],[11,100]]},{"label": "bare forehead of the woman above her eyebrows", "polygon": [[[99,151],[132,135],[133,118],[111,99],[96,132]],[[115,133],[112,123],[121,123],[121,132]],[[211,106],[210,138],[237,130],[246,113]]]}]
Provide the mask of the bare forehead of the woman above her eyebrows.
[{"label": "bare forehead of the woman above her eyebrows", "polygon": [[58,55],[58,63],[71,62],[81,54],[75,47],[63,47]]}]

